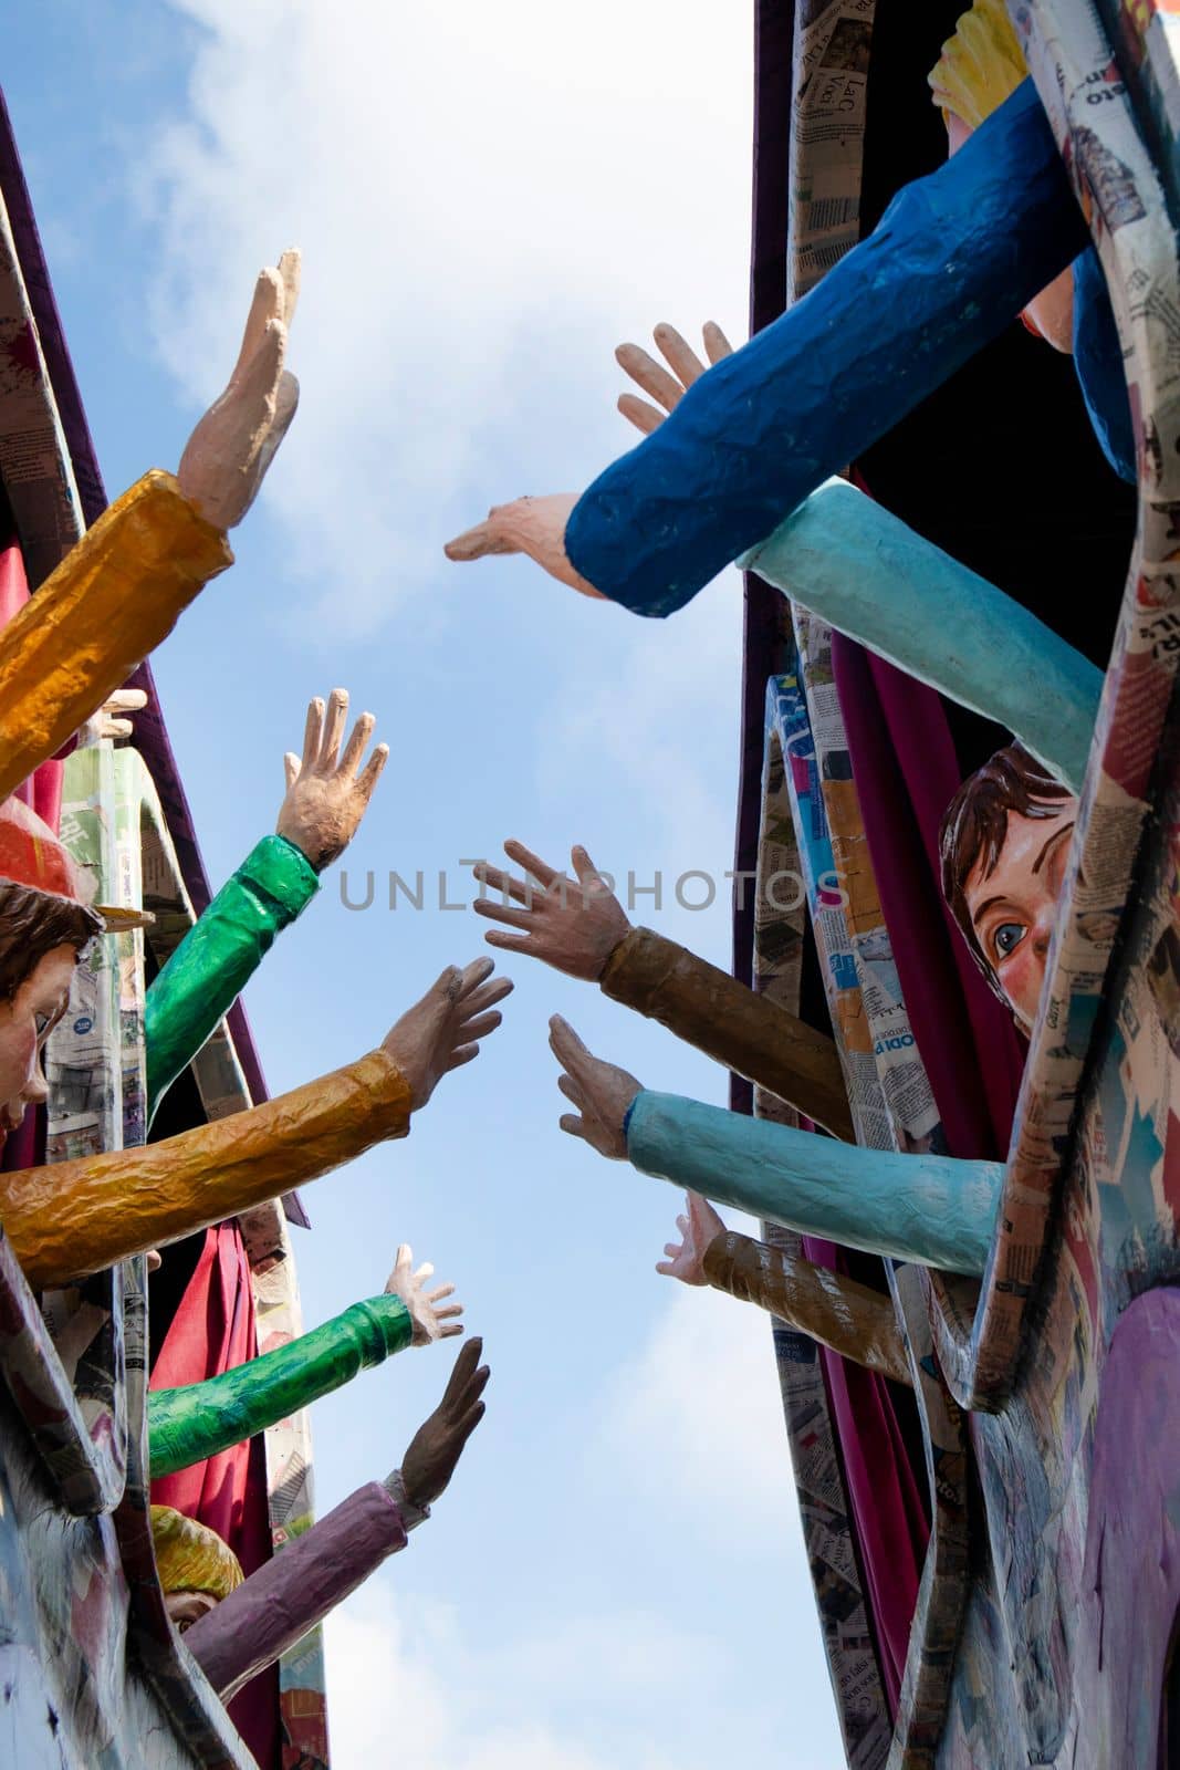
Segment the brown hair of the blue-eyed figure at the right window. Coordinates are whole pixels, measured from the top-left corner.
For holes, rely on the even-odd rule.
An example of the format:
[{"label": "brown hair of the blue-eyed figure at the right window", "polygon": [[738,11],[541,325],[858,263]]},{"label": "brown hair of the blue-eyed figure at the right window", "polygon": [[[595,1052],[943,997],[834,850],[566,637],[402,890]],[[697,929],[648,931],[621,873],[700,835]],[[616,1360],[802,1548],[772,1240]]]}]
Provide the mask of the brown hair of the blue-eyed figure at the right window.
[{"label": "brown hair of the blue-eyed figure at the right window", "polygon": [[1072,796],[1067,786],[1046,773],[1023,743],[1008,743],[968,775],[943,812],[938,832],[943,897],[971,949],[971,958],[1003,1000],[1007,997],[978,943],[968,910],[968,874],[978,864],[984,878],[991,878],[1008,834],[1010,812],[1019,818],[1051,818],[1060,800]]}]

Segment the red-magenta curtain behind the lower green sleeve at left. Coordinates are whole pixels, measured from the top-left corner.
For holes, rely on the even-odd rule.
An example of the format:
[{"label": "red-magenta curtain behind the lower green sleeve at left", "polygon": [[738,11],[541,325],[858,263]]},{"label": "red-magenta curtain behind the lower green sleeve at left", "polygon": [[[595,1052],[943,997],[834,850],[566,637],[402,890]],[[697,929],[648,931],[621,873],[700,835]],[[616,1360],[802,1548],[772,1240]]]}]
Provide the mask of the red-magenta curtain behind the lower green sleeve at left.
[{"label": "red-magenta curtain behind the lower green sleeve at left", "polygon": [[[159,1349],[149,1388],[173,1389],[184,1382],[202,1382],[223,1370],[235,1370],[257,1354],[255,1301],[241,1230],[234,1221],[218,1223],[205,1230],[205,1246]],[[152,1481],[152,1503],[175,1506],[214,1529],[248,1577],[271,1559],[265,1451],[260,1437]],[[230,1703],[230,1720],[258,1759],[260,1770],[278,1770],[278,1667],[271,1666],[244,1687]]]}]

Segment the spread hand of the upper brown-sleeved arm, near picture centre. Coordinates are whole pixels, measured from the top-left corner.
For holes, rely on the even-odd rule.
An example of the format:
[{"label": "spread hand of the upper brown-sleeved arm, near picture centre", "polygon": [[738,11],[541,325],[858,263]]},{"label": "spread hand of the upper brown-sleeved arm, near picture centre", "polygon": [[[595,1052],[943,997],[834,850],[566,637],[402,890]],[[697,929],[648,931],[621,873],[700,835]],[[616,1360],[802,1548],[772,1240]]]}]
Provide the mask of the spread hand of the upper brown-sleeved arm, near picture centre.
[{"label": "spread hand of the upper brown-sleeved arm, near picture centre", "polygon": [[573,848],[570,860],[575,878],[568,878],[524,843],[504,843],[504,853],[524,867],[525,878],[502,873],[490,860],[479,860],[472,869],[479,883],[497,890],[501,899],[522,904],[520,910],[511,910],[506,901],[495,903],[483,896],[476,899],[476,915],[518,929],[515,935],[494,929],[485,935],[488,945],[541,959],[566,977],[598,982],[632,924],[591,857],[584,848]]}]

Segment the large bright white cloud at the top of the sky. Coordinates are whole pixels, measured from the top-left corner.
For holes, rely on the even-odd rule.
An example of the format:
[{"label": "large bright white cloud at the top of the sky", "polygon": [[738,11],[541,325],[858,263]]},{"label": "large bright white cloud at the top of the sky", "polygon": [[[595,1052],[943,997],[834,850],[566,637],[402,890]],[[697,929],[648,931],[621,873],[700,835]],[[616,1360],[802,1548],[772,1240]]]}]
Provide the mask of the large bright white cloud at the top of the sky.
[{"label": "large bright white cloud at the top of the sky", "polygon": [[[713,0],[173,0],[189,117],[147,156],[156,342],[193,400],[304,250],[304,404],[264,494],[372,628],[458,524],[626,446],[619,336],[738,326],[750,32]],[[598,405],[596,405],[598,402]],[[444,568],[455,570],[455,568]],[[304,598],[306,600],[306,598]]]}]

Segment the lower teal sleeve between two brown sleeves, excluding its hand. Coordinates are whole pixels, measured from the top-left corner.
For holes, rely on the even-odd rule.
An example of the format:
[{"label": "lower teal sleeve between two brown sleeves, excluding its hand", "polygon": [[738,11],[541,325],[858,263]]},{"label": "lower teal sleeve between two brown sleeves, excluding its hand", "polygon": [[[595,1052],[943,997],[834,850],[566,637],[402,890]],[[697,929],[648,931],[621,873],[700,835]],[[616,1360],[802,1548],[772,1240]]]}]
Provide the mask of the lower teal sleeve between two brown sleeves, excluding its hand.
[{"label": "lower teal sleeve between two brown sleeves, excluding its hand", "polygon": [[640,1092],[626,1152],[716,1204],[893,1260],[982,1274],[1003,1166],[856,1149],[676,1094]]}]

